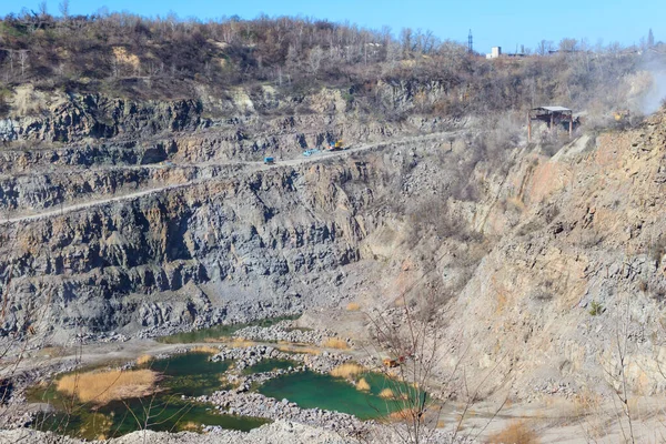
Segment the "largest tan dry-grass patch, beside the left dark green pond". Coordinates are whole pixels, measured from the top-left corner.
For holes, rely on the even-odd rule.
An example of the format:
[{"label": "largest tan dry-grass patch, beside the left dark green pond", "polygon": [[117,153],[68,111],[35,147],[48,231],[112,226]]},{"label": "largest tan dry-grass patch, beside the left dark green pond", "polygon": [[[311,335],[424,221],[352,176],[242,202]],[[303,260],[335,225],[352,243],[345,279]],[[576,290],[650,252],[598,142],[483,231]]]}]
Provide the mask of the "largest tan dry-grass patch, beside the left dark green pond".
[{"label": "largest tan dry-grass patch, beside the left dark green pond", "polygon": [[155,389],[158,374],[150,370],[110,370],[62,376],[57,390],[81,402],[105,404],[113,400],[145,396]]}]

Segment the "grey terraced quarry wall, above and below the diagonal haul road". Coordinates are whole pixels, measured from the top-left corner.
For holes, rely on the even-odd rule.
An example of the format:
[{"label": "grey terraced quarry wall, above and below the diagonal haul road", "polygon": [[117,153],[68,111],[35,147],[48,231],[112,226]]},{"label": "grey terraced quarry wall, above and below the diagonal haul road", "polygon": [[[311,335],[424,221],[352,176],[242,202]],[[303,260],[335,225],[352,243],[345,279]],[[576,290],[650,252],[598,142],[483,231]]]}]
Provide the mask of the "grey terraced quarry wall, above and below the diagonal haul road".
[{"label": "grey terraced quarry wall, above and below the diagonal haul road", "polygon": [[[360,124],[335,111],[339,99],[304,99],[322,113],[208,121],[193,101],[74,95],[10,117],[2,128],[18,142],[0,150],[0,290],[12,309],[2,330],[61,341],[80,329],[204,326],[359,293],[365,276],[347,283],[345,268],[374,256],[364,241],[394,216],[376,205],[415,191],[391,178],[416,163],[414,150],[431,155],[441,142],[402,135],[302,163],[302,149],[341,132],[372,144],[427,122]],[[294,161],[262,168],[278,148]]]}]

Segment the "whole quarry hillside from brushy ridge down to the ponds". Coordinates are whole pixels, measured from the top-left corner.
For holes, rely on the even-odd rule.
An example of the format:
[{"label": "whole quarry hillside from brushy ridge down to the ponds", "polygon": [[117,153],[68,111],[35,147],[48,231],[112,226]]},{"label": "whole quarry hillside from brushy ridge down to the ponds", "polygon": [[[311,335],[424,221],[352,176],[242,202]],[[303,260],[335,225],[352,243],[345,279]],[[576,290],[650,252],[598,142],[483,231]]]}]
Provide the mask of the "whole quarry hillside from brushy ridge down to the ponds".
[{"label": "whole quarry hillside from brushy ridge down to the ponds", "polygon": [[[102,12],[8,16],[0,49],[12,406],[95,353],[174,353],[152,339],[299,315],[236,340],[305,337],[335,364],[427,349],[425,391],[452,417],[465,402],[513,405],[505,425],[562,403],[558,421],[615,416],[595,425],[608,438],[633,412],[644,430],[660,417],[666,113],[645,108],[658,52],[486,60],[423,32]],[[537,125],[526,140],[542,104],[576,111],[573,138]],[[337,140],[345,150],[325,152]],[[432,333],[420,351],[377,337],[414,323]],[[544,416],[533,428],[566,425]],[[269,418],[259,430],[290,427]]]}]

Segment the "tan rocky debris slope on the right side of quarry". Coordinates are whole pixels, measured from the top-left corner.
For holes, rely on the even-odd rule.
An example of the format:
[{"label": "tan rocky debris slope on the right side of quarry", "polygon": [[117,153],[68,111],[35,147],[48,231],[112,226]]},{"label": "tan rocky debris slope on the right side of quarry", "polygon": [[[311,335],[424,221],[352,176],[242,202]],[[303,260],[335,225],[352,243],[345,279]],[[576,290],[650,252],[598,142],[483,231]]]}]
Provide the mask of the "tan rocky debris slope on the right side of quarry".
[{"label": "tan rocky debris slope on the right side of quarry", "polygon": [[660,112],[517,163],[484,225],[502,240],[441,315],[442,371],[518,398],[662,392],[665,160]]}]

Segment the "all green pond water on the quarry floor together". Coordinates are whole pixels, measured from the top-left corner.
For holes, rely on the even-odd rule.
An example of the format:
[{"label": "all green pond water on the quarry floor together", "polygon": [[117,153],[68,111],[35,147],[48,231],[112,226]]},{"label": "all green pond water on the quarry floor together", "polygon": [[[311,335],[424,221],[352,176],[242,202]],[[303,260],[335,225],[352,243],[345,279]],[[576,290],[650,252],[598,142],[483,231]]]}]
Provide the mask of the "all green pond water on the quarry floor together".
[{"label": "all green pond water on the quarry floor together", "polygon": [[[264,320],[258,324],[269,326],[284,319],[295,317]],[[160,340],[165,343],[205,342],[230,336],[243,326],[246,324],[221,325]],[[58,393],[54,389],[56,384],[50,384],[47,389],[34,387],[29,391],[29,401],[49,403],[54,407],[54,413],[40,415],[33,426],[43,431],[93,440],[121,436],[143,428],[167,432],[200,430],[202,424],[249,431],[270,422],[255,417],[220,415],[210,404],[182,400],[181,396],[208,395],[225,389],[221,381],[231,362],[211,362],[209,356],[206,353],[186,353],[151,361],[141,367],[152,369],[161,375],[155,394],[113,401],[102,406],[72,401],[71,396]],[[243,373],[262,373],[297,365],[297,362],[290,360],[264,360],[245,369]],[[287,398],[303,408],[319,407],[350,413],[361,420],[385,416],[404,407],[403,402],[379,396],[384,389],[391,389],[394,393],[408,393],[410,396],[416,395],[414,389],[382,374],[366,373],[363,377],[370,384],[370,391],[356,390],[344,379],[314,372],[292,373],[276,377],[256,390],[270,397]]]}]

